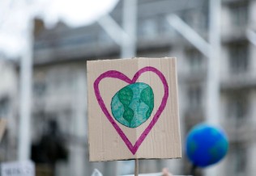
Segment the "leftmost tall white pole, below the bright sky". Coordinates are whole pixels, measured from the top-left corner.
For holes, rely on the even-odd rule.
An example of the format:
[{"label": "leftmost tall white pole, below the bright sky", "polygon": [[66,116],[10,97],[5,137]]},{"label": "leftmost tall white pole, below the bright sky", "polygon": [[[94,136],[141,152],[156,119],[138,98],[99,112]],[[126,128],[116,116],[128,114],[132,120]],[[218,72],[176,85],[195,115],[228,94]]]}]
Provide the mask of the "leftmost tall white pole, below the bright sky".
[{"label": "leftmost tall white pole, below the bright sky", "polygon": [[19,161],[29,160],[31,152],[33,21],[28,21],[26,49],[20,60]]}]

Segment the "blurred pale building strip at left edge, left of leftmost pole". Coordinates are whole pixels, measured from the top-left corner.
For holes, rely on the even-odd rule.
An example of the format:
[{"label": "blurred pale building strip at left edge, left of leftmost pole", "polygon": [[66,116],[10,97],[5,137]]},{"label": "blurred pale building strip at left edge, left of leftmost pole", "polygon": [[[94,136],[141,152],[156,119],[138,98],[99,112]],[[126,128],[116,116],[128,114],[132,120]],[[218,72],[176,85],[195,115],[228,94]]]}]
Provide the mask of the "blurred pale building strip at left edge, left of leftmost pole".
[{"label": "blurred pale building strip at left edge, left of leftmost pole", "polygon": [[6,57],[0,56],[0,118],[7,119],[6,132],[0,143],[0,161],[15,160],[17,155],[17,98],[18,85],[15,65],[12,61],[4,61]]}]

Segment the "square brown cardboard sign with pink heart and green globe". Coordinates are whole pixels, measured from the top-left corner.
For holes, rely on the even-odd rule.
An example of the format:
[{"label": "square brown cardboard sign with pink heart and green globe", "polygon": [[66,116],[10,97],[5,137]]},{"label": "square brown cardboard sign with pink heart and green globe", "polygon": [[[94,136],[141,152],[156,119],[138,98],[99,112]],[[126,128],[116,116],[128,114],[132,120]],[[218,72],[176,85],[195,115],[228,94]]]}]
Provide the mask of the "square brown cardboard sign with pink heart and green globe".
[{"label": "square brown cardboard sign with pink heart and green globe", "polygon": [[175,58],[87,61],[90,161],[181,157]]}]

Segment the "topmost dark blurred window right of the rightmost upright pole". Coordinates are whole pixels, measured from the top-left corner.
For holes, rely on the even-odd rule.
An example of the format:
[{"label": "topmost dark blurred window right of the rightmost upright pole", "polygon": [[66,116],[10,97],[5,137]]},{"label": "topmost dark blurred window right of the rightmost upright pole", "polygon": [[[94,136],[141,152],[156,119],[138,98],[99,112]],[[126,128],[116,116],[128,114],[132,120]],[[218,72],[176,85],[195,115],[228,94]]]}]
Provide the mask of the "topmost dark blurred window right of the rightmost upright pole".
[{"label": "topmost dark blurred window right of the rightmost upright pole", "polygon": [[230,7],[233,27],[245,27],[248,21],[248,5],[246,3],[234,4]]}]

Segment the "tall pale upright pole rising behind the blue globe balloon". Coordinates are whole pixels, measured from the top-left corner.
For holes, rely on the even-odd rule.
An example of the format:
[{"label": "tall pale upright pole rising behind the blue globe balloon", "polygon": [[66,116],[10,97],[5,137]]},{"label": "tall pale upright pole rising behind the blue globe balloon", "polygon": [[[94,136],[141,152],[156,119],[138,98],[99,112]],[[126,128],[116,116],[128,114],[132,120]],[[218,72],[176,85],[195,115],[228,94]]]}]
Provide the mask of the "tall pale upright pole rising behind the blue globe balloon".
[{"label": "tall pale upright pole rising behind the blue globe balloon", "polygon": [[[207,123],[220,124],[220,13],[221,0],[210,0],[209,3],[209,40],[211,44],[210,57],[207,68]],[[207,176],[215,176],[220,173],[220,166],[213,166],[205,170]]]}]

